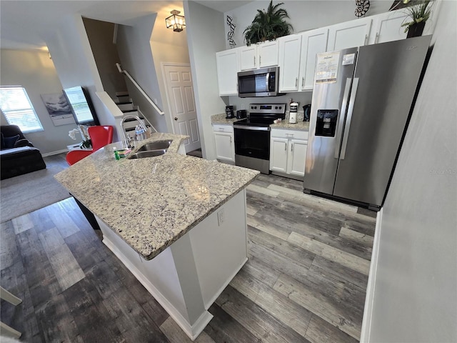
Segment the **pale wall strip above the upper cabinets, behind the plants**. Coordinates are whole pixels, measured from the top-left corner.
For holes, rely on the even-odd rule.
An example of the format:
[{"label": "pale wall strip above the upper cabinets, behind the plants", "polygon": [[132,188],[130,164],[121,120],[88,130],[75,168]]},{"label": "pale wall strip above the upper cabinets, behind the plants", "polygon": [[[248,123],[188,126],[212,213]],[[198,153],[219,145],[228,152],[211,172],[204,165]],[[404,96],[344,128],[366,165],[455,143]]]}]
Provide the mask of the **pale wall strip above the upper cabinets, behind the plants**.
[{"label": "pale wall strip above the upper cabinets, behind the plants", "polygon": [[[278,4],[279,2],[284,3],[279,6],[279,8],[286,9],[290,18],[286,20],[292,24],[292,33],[294,34],[357,19],[354,14],[354,11],[356,10],[356,1],[353,0],[283,0],[273,1],[273,5]],[[236,24],[234,34],[236,46],[243,46],[246,45],[244,43],[243,31],[252,23],[254,16],[257,14],[257,10],[266,11],[269,3],[270,1],[267,0],[252,1],[244,6],[224,13],[224,37],[226,42],[224,49],[230,49],[229,41],[227,40],[229,26],[226,24],[226,16],[231,16],[233,18],[233,24]],[[374,14],[386,12],[391,7],[392,3],[393,1],[371,0],[370,9],[368,9],[366,16],[373,16]]]}]

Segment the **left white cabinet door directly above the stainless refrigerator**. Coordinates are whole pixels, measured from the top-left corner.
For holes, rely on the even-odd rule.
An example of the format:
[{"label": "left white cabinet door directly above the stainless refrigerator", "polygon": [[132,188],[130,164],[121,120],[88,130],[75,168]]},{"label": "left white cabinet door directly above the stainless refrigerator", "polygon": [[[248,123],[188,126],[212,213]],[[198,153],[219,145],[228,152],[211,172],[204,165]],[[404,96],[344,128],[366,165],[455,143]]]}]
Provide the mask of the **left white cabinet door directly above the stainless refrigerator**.
[{"label": "left white cabinet door directly above the stainless refrigerator", "polygon": [[328,26],[327,51],[335,51],[368,44],[370,17]]}]

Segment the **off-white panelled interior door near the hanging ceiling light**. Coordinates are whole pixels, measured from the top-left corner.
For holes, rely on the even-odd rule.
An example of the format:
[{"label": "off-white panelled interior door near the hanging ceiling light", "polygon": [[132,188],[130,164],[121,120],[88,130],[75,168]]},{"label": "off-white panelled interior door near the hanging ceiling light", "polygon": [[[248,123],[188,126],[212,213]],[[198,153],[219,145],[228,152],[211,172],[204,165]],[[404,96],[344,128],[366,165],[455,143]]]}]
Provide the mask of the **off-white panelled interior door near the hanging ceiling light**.
[{"label": "off-white panelled interior door near the hanging ceiling light", "polygon": [[166,95],[175,134],[190,136],[184,141],[186,152],[201,148],[197,112],[192,87],[191,66],[164,64]]}]

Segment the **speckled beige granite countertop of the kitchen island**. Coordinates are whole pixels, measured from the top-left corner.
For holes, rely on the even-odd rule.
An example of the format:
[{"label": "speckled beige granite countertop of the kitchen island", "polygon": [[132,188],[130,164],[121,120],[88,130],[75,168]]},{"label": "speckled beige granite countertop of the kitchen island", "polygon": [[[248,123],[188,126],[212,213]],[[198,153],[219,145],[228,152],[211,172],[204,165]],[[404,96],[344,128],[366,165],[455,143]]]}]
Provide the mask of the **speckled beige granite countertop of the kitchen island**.
[{"label": "speckled beige granite countertop of the kitchen island", "polygon": [[116,160],[119,143],[109,144],[55,178],[144,259],[153,259],[259,174],[178,154],[187,138],[152,134],[141,145],[173,142],[166,154],[144,159]]}]

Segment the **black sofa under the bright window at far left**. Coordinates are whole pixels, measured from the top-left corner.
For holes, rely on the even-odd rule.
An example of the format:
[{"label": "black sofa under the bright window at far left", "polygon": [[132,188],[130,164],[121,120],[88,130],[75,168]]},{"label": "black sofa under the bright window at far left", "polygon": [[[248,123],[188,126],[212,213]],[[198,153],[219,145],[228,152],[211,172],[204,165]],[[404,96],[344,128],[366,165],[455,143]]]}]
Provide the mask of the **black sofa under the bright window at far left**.
[{"label": "black sofa under the bright window at far left", "polygon": [[1,125],[0,131],[0,179],[46,168],[39,149],[26,139],[19,126]]}]

